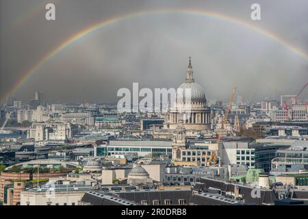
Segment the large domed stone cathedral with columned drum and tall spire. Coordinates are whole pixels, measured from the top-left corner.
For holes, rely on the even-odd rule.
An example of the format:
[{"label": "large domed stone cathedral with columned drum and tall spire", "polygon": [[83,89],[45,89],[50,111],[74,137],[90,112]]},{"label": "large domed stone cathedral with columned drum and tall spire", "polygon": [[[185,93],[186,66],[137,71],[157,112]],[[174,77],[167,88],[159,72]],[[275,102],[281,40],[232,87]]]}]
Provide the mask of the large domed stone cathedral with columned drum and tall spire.
[{"label": "large domed stone cathedral with columned drum and tall spire", "polygon": [[[183,90],[183,98],[177,96],[175,107],[170,107],[166,115],[166,128],[175,130],[179,125],[179,120],[183,120],[183,127],[188,136],[196,136],[198,132],[210,129],[211,110],[207,107],[203,88],[194,81],[191,58],[186,81],[179,86],[179,89]],[[190,89],[190,99],[185,96],[187,89]],[[179,109],[183,109],[183,112],[180,112]]]}]

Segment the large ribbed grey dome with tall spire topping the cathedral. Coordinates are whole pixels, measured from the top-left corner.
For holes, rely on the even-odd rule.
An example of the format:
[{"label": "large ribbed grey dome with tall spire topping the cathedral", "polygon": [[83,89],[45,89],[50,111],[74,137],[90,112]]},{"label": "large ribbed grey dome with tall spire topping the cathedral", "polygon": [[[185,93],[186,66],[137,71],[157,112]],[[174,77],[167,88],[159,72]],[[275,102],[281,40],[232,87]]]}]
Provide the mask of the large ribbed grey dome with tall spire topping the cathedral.
[{"label": "large ribbed grey dome with tall spire topping the cathedral", "polygon": [[[182,83],[179,88],[183,89],[183,99],[185,100],[185,89],[190,89],[191,91],[191,101],[203,102],[206,103],[207,99],[205,98],[205,93],[203,88],[196,82],[194,82],[193,72],[192,72],[192,60],[190,58],[190,62],[188,65],[187,78],[185,83]],[[183,99],[179,98],[177,101],[183,101]]]}]

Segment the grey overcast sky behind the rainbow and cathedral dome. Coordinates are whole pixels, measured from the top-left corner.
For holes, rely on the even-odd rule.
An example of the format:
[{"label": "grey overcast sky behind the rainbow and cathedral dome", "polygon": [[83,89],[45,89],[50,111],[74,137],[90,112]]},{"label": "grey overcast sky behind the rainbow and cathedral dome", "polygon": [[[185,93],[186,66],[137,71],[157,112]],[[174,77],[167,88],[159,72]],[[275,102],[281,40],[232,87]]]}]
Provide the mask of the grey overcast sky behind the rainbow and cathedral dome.
[{"label": "grey overcast sky behind the rainbow and cathedral dome", "polygon": [[[308,53],[307,0],[0,0],[0,92],[11,90],[42,56],[94,23],[159,9],[207,10],[270,31]],[[44,7],[55,3],[56,21]],[[261,5],[261,21],[251,5]],[[45,62],[16,91],[27,101],[44,92],[50,102],[118,100],[119,88],[177,88],[186,77],[188,56],[207,99],[279,99],[308,81],[308,60],[283,44],[238,23],[184,13],[157,13],[93,31]],[[308,99],[308,89],[303,92]]]}]

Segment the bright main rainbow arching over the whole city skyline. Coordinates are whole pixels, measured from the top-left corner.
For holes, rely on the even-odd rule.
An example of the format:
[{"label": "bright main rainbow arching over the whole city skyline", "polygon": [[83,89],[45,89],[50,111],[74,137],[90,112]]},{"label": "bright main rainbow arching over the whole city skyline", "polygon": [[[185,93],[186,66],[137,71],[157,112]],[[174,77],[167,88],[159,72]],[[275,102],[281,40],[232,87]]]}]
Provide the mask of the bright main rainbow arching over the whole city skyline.
[{"label": "bright main rainbow arching over the whole city skyline", "polygon": [[264,34],[268,38],[272,38],[272,40],[279,42],[283,47],[286,47],[287,49],[290,49],[290,51],[300,55],[301,57],[304,57],[305,59],[308,60],[308,54],[305,53],[304,51],[300,51],[300,49],[294,47],[292,44],[289,44],[288,42],[285,42],[282,38],[279,36],[271,33],[270,31],[267,31],[265,29],[261,29],[259,27],[255,27],[251,25],[250,23],[246,23],[244,21],[240,21],[237,18],[232,18],[230,16],[226,16],[223,14],[218,14],[216,12],[209,12],[205,10],[193,10],[193,9],[171,9],[171,10],[150,10],[150,11],[142,11],[142,12],[135,12],[132,14],[125,14],[125,15],[120,15],[120,16],[114,16],[112,18],[104,19],[103,21],[100,21],[99,23],[95,23],[94,25],[83,29],[82,31],[79,31],[77,34],[71,36],[70,38],[64,40],[61,44],[59,44],[55,49],[44,55],[32,68],[27,70],[25,75],[21,77],[16,83],[14,83],[14,86],[12,87],[11,90],[6,92],[2,97],[1,100],[8,98],[8,96],[14,94],[16,90],[25,82],[27,79],[33,75],[38,68],[40,68],[44,63],[48,62],[51,60],[53,56],[55,56],[57,53],[68,47],[68,45],[73,44],[77,40],[83,38],[84,36],[92,33],[93,31],[106,27],[108,25],[112,25],[114,23],[118,23],[120,21],[125,21],[130,18],[134,18],[136,16],[144,16],[144,15],[149,15],[149,14],[164,14],[164,13],[180,13],[180,14],[196,14],[196,15],[201,15],[201,16],[208,16],[211,18],[218,18],[222,21],[229,21],[231,23],[236,23],[238,25],[242,25],[243,27],[247,27],[248,29],[252,29],[253,31],[256,31],[257,33]]}]

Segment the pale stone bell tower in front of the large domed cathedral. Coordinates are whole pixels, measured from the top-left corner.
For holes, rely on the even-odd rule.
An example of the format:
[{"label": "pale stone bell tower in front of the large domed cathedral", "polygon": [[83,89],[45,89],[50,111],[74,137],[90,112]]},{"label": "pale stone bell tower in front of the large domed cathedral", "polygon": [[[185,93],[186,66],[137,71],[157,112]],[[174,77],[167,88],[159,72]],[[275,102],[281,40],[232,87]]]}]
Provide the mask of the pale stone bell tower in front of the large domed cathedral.
[{"label": "pale stone bell tower in front of the large domed cathedral", "polygon": [[175,132],[173,133],[173,143],[172,143],[172,159],[181,161],[181,149],[185,149],[187,146],[185,127],[183,125],[183,120],[179,120],[179,125]]}]

